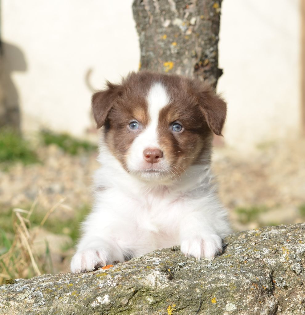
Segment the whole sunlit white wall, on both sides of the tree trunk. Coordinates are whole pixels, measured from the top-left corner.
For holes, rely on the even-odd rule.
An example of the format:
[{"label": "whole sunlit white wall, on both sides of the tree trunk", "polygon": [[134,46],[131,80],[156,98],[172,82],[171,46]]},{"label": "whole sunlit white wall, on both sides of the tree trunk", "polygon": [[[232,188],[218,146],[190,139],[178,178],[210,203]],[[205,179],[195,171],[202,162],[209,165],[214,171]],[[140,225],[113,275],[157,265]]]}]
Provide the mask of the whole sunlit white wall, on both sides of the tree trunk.
[{"label": "whole sunlit white wall, on both sides of the tree trunk", "polygon": [[[138,69],[132,0],[2,0],[2,40],[23,129],[83,135],[91,83]],[[240,148],[300,129],[299,0],[224,0],[218,90],[228,101],[225,139]],[[14,48],[15,46],[15,48]],[[14,94],[14,93],[11,93]],[[12,97],[12,101],[14,97]]]}]

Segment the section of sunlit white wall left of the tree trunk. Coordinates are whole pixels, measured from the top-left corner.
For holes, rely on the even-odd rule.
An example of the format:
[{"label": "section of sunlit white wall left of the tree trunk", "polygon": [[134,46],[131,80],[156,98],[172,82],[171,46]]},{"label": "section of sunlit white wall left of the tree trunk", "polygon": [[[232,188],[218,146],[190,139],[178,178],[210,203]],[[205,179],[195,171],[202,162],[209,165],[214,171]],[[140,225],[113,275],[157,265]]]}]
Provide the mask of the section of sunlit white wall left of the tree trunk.
[{"label": "section of sunlit white wall left of the tree trunk", "polygon": [[[120,80],[139,64],[132,0],[2,0],[2,40],[17,46],[26,71],[14,70],[22,127],[82,135],[90,122],[91,83]],[[4,46],[5,49],[5,46]],[[16,49],[15,49],[16,50]],[[7,50],[7,58],[14,56]]]}]

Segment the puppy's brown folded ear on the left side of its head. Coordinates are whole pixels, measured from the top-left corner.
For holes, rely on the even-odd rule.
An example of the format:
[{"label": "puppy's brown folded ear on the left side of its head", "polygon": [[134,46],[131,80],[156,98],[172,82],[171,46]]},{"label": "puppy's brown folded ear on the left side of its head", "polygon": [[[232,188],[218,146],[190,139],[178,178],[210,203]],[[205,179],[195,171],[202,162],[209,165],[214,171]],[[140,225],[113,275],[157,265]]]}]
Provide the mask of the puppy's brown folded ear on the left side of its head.
[{"label": "puppy's brown folded ear on the left side of its head", "polygon": [[107,81],[107,87],[108,89],[93,94],[91,99],[93,117],[97,123],[97,128],[104,125],[114,99],[121,94],[121,85]]}]

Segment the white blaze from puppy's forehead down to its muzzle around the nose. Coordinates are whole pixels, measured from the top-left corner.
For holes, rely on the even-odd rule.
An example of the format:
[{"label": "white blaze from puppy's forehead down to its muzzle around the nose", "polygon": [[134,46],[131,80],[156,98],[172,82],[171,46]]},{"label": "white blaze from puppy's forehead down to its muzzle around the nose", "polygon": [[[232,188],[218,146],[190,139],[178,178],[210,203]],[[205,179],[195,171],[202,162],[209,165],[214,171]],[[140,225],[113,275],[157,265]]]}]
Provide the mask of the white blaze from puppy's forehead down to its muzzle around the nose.
[{"label": "white blaze from puppy's forehead down to its muzzle around the nose", "polygon": [[[150,167],[143,158],[143,152],[148,148],[162,150],[158,143],[158,118],[161,109],[168,105],[170,97],[166,88],[160,83],[152,84],[148,94],[148,126],[135,138],[127,154],[127,166],[130,170],[147,169]],[[164,159],[160,161],[159,166],[165,166]]]}]

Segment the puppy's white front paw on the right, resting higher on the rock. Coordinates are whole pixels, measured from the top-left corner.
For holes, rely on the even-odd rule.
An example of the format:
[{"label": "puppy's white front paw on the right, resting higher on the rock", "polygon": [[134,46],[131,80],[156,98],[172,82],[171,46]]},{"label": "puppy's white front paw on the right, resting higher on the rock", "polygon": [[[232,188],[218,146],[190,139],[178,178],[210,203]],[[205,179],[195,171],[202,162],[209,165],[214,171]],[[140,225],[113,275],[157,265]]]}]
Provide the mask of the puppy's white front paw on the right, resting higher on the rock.
[{"label": "puppy's white front paw on the right, resting higher on the rock", "polygon": [[221,238],[211,234],[204,238],[189,238],[181,242],[181,252],[185,256],[194,256],[197,260],[214,259],[215,255],[222,252]]}]

